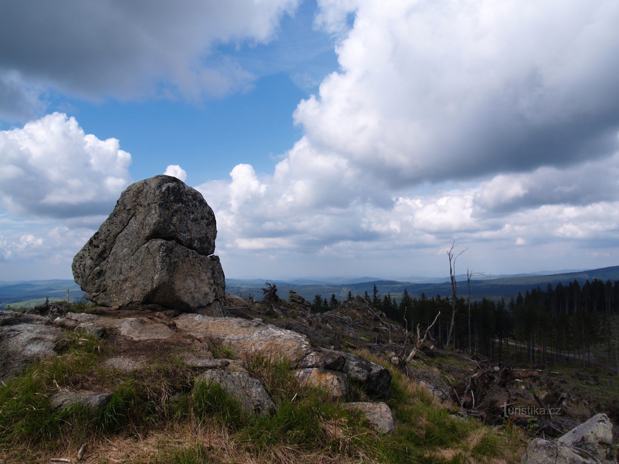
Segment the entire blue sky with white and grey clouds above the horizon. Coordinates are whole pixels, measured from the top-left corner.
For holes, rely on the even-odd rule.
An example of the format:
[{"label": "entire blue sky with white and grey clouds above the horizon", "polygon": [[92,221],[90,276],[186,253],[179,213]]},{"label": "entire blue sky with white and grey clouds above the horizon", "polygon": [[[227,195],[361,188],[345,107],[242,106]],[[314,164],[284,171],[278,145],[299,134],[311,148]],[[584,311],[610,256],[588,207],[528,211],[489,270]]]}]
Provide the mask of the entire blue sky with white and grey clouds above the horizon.
[{"label": "entire blue sky with white and grey clouds above the horizon", "polygon": [[9,0],[0,280],[176,176],[227,277],[619,264],[616,0]]}]

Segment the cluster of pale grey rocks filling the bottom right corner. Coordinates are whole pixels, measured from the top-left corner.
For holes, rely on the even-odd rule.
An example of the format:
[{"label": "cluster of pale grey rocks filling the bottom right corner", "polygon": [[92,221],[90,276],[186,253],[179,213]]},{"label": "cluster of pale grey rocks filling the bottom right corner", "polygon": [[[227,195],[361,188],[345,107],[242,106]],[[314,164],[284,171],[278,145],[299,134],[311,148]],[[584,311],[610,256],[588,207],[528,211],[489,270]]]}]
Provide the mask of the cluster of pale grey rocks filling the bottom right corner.
[{"label": "cluster of pale grey rocks filling the bottom right corner", "polygon": [[613,426],[605,414],[597,414],[575,427],[556,442],[533,440],[521,464],[617,464],[612,452]]}]

